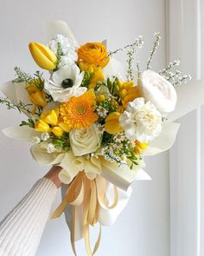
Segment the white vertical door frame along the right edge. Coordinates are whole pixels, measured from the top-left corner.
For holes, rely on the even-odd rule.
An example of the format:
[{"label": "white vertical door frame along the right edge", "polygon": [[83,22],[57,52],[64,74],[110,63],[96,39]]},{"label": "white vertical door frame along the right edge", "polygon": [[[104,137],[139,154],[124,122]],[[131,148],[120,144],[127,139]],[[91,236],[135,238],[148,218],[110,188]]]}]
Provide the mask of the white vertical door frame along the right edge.
[{"label": "white vertical door frame along the right edge", "polygon": [[178,89],[177,111],[170,116],[171,120],[183,116],[179,119],[182,127],[175,146],[169,152],[171,256],[204,255],[203,227],[201,230],[201,208],[204,206],[201,187],[201,105],[204,104],[201,2],[167,1],[167,58],[173,61],[179,56],[182,70],[193,78],[188,85]]}]

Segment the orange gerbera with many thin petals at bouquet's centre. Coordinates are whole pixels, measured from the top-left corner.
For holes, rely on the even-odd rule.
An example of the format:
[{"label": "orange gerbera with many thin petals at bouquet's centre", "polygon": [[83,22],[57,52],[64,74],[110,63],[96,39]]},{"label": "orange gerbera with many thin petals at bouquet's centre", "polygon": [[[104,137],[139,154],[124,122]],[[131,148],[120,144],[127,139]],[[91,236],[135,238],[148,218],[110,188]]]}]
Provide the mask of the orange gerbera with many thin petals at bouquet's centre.
[{"label": "orange gerbera with many thin petals at bouquet's centre", "polygon": [[68,102],[61,104],[61,119],[70,128],[86,128],[97,121],[98,115],[94,113],[95,95],[87,91],[79,97],[71,97]]}]

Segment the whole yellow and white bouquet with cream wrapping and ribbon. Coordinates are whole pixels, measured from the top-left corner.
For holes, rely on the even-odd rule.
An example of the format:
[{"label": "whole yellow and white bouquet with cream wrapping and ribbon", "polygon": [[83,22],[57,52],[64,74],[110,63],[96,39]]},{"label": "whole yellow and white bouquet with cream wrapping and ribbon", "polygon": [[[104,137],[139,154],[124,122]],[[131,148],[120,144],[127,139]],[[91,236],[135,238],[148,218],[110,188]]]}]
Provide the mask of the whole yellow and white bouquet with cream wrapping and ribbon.
[{"label": "whole yellow and white bouquet with cream wrapping and ribbon", "polygon": [[[47,45],[29,43],[35,63],[48,70],[30,75],[16,67],[16,79],[3,84],[0,102],[27,115],[16,127],[5,128],[11,138],[31,142],[31,154],[41,166],[62,167],[61,205],[52,218],[65,212],[74,242],[85,239],[88,255],[94,249],[89,226],[111,225],[131,196],[131,183],[150,180],[143,157],[168,150],[179,125],[167,115],[176,104],[175,86],[189,75],[170,62],[159,72],[151,70],[160,35],[156,33],[146,69],[142,72],[137,50],[142,36],[121,49],[104,43],[79,45],[65,23],[63,33]],[[115,56],[123,53],[126,65]]]}]

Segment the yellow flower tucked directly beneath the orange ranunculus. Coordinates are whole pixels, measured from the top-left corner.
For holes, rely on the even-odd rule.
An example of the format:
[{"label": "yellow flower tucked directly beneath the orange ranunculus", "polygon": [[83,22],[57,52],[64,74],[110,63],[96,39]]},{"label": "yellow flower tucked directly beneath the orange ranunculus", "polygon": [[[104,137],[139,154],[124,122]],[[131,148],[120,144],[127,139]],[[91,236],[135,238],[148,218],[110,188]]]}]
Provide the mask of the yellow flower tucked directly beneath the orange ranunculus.
[{"label": "yellow flower tucked directly beneath the orange ranunculus", "polygon": [[85,62],[80,62],[79,65],[81,71],[86,71],[91,75],[89,89],[94,88],[97,82],[105,80],[101,67],[97,67],[94,64],[87,64]]}]

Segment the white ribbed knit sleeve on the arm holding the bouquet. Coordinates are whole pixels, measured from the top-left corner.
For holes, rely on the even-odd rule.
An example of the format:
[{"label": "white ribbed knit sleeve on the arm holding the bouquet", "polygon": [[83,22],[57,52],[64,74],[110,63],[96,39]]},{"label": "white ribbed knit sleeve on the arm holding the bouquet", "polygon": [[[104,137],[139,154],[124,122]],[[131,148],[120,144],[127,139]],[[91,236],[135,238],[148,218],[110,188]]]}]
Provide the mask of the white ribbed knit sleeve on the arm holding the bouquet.
[{"label": "white ribbed knit sleeve on the arm holding the bouquet", "polygon": [[33,256],[41,240],[57,192],[43,178],[0,223],[0,256]]}]

